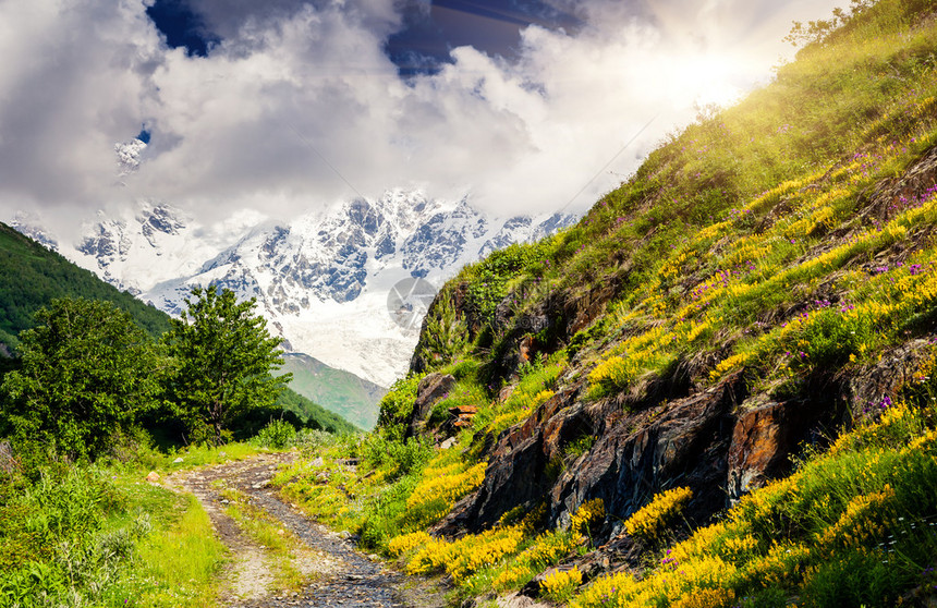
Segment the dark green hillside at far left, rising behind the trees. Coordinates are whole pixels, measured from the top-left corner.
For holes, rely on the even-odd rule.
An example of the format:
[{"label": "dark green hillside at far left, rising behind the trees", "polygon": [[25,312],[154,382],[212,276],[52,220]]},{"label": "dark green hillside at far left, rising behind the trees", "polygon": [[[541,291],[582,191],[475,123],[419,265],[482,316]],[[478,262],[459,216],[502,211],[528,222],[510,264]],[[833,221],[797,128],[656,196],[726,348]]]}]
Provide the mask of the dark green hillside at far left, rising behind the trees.
[{"label": "dark green hillside at far left, rising behind the trees", "polygon": [[169,330],[162,312],[0,223],[0,343],[15,350],[16,337],[33,326],[36,311],[64,296],[112,302],[154,338]]}]

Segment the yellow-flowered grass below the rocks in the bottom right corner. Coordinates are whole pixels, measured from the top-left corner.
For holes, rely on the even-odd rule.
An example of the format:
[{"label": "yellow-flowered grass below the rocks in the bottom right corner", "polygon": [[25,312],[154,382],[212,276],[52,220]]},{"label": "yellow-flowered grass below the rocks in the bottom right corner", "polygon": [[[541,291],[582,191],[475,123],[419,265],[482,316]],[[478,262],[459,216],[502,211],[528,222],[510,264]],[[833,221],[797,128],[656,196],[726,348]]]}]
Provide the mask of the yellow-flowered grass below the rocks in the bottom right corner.
[{"label": "yellow-flowered grass below the rocks in the bottom right corner", "polygon": [[[641,580],[599,579],[571,606],[699,605],[693,601],[704,597],[709,606],[731,598],[783,606],[800,597],[800,606],[860,607],[893,606],[909,593],[934,597],[935,387],[920,381],[914,390],[925,384],[926,402],[909,394],[888,405],[878,422],[842,436],[790,477],[747,495],[720,522],[670,546]],[[722,599],[706,589],[719,589]]]}]

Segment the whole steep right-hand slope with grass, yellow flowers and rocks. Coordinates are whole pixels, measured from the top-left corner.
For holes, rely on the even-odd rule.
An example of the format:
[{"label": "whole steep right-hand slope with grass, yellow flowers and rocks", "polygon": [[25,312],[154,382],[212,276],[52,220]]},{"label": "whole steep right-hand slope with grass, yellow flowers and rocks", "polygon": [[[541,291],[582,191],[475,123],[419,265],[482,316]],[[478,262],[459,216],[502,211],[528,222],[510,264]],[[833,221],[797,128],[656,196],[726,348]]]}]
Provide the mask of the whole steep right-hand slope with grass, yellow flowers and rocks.
[{"label": "whole steep right-hand slope with grass, yellow flowers and rocks", "polygon": [[343,446],[358,477],[327,460],[287,490],[460,597],[564,562],[528,592],[933,601],[935,5],[838,25],[577,226],[465,268]]}]

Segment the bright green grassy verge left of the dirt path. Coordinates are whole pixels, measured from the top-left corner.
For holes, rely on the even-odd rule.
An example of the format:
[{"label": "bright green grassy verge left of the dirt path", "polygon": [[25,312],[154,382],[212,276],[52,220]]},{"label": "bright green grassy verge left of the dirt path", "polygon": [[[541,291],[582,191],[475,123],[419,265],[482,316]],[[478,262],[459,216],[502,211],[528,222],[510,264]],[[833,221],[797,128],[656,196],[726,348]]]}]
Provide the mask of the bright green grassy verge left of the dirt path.
[{"label": "bright green grassy verge left of the dirt path", "polygon": [[197,502],[142,477],[75,465],[7,477],[0,606],[210,606],[223,547]]}]

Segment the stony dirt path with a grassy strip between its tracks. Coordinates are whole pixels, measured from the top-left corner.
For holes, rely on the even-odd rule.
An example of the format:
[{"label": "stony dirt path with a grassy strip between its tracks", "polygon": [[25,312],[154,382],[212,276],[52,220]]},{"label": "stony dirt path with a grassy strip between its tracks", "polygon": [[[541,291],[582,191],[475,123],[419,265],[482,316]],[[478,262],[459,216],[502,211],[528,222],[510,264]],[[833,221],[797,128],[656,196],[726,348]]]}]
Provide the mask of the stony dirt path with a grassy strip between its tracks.
[{"label": "stony dirt path with a grassy strip between its tracks", "polygon": [[[376,559],[356,551],[353,545],[324,526],[311,522],[282,502],[269,487],[278,465],[292,453],[261,454],[242,461],[179,473],[167,485],[192,493],[202,502],[234,562],[228,573],[224,606],[230,608],[441,608],[441,594]],[[292,533],[303,545],[293,567],[309,576],[300,591],[277,591],[267,548],[242,531],[224,513],[228,500],[220,486],[247,496],[253,507],[273,518],[283,533]]]}]

